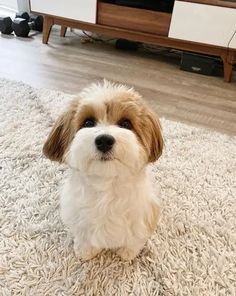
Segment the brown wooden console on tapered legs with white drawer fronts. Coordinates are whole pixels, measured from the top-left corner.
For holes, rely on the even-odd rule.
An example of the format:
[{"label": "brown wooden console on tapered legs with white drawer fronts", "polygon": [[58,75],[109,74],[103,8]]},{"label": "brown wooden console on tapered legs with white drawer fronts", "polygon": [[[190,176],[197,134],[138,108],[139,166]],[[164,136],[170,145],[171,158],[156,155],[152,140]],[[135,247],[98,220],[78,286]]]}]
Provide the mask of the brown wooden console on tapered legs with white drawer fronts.
[{"label": "brown wooden console on tapered legs with white drawer fronts", "polygon": [[[53,10],[52,2],[56,7]],[[31,12],[44,15],[43,43],[48,43],[51,28],[57,24],[61,25],[61,36],[65,36],[67,27],[72,27],[218,56],[224,63],[224,80],[231,81],[236,53],[236,3],[176,0],[172,14],[97,0],[31,0],[30,3]]]}]

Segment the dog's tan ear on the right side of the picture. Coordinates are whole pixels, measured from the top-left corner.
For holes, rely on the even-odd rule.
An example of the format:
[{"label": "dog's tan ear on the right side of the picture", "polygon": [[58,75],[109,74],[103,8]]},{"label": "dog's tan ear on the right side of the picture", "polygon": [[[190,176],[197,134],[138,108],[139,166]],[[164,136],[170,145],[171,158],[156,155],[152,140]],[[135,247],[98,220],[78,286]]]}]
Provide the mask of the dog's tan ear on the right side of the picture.
[{"label": "dog's tan ear on the right side of the picture", "polygon": [[144,146],[148,152],[148,161],[154,162],[161,156],[164,145],[161,124],[157,116],[150,110],[146,110],[143,124]]}]

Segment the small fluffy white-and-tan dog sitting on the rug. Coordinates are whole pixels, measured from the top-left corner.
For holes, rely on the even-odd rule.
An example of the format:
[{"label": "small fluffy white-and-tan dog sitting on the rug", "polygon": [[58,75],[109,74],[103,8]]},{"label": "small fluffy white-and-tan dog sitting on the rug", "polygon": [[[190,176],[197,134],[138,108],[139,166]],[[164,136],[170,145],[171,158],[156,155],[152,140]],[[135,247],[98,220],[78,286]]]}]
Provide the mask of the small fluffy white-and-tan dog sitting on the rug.
[{"label": "small fluffy white-and-tan dog sitting on the rug", "polygon": [[158,221],[147,168],[162,147],[157,117],[124,85],[92,84],[58,118],[43,151],[70,168],[61,214],[79,257],[114,249],[132,260],[140,252]]}]

